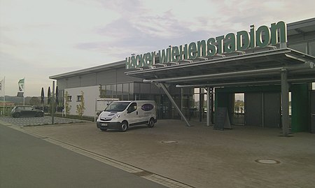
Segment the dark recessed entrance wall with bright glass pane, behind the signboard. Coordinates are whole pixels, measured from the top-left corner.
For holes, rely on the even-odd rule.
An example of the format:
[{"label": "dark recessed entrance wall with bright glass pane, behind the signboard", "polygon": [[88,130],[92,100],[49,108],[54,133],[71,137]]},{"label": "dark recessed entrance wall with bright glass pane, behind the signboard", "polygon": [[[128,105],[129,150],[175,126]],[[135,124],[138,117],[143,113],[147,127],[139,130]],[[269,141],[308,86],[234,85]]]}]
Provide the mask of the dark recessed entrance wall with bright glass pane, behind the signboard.
[{"label": "dark recessed entrance wall with bright glass pane, behind the signboard", "polygon": [[232,124],[281,128],[280,90],[275,85],[218,88],[215,103],[228,109]]}]

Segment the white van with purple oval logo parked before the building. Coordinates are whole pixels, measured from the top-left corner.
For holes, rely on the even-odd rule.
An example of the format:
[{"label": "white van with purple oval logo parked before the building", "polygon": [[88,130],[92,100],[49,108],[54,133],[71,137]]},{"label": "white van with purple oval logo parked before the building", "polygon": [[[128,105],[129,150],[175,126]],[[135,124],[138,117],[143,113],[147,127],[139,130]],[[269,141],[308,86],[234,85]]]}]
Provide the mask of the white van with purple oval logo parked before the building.
[{"label": "white van with purple oval logo parked before the building", "polygon": [[97,128],[126,131],[139,124],[153,127],[156,122],[155,101],[113,101],[97,118]]}]

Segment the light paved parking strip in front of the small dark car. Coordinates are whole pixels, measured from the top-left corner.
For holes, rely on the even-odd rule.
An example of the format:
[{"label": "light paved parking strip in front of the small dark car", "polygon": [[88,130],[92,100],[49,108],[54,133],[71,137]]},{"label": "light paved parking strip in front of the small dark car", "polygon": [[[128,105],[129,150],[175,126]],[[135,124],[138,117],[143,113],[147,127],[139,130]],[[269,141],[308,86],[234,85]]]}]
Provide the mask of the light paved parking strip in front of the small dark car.
[{"label": "light paved parking strip in front of the small dark car", "polygon": [[[44,117],[0,117],[0,123],[6,125],[18,125],[18,126],[36,126],[36,125],[47,125],[51,124],[52,117],[44,116]],[[79,122],[87,122],[85,120],[74,120],[63,117],[55,117],[55,124],[70,124],[70,123],[79,123]]]}]

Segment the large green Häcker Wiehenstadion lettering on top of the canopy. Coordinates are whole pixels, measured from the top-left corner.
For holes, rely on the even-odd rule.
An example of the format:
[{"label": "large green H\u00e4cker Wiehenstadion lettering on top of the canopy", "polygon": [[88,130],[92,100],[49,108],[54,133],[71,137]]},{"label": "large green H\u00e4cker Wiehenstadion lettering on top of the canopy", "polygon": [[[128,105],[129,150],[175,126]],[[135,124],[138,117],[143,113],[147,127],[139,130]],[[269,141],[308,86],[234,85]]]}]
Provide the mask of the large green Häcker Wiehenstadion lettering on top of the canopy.
[{"label": "large green H\u00e4cker Wiehenstadion lettering on top of the canopy", "polygon": [[[217,54],[228,54],[235,51],[247,50],[248,48],[265,48],[267,45],[277,45],[287,42],[287,28],[285,22],[272,23],[271,27],[262,25],[255,29],[251,25],[248,31],[238,31],[225,36],[211,37],[207,41],[201,40],[197,43],[189,43],[179,46],[169,46],[164,50],[148,52],[144,55],[132,55],[126,57],[125,67],[139,68],[143,66],[154,66],[155,59],[159,64],[169,62],[181,62],[185,59],[194,60],[197,57],[212,57]],[[285,45],[283,45],[285,46]]]}]

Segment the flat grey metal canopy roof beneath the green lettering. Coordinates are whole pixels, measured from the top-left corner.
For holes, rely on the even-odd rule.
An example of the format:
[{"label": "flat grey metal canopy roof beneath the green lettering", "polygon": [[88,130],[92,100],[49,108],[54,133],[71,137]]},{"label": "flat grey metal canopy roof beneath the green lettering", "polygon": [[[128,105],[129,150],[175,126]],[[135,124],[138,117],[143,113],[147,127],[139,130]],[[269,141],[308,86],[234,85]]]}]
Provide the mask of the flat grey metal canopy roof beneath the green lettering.
[{"label": "flat grey metal canopy roof beneath the green lettering", "polygon": [[315,82],[315,57],[289,48],[254,50],[195,62],[155,64],[126,74],[143,78],[144,82],[200,87],[280,83],[281,71],[288,71],[288,82]]}]

